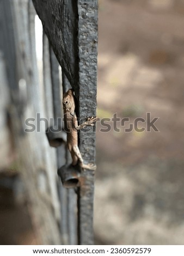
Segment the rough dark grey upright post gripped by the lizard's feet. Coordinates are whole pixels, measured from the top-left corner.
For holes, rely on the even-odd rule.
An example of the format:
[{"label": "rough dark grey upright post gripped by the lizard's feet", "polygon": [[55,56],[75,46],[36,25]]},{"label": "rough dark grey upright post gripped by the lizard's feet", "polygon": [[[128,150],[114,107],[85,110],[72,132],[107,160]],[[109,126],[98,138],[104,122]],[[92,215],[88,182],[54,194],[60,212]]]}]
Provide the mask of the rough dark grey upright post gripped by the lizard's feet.
[{"label": "rough dark grey upright post gripped by the lizard's feet", "polygon": [[[79,118],[96,116],[97,81],[97,0],[78,0]],[[80,151],[84,162],[95,162],[95,128],[80,132]],[[83,170],[78,192],[79,244],[92,245],[94,171]]]}]

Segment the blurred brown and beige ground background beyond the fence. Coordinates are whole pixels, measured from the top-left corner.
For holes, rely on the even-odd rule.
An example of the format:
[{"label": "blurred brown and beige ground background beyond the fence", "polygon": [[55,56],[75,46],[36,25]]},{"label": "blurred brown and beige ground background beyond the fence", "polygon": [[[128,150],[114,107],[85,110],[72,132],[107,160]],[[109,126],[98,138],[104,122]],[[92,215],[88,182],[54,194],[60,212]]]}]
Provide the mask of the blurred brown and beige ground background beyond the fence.
[{"label": "blurred brown and beige ground background beyond the fence", "polygon": [[[150,112],[159,132],[97,124],[98,245],[183,244],[183,14],[183,0],[99,0],[97,115],[133,123]],[[35,245],[15,163],[9,175],[0,176],[0,244]]]}]

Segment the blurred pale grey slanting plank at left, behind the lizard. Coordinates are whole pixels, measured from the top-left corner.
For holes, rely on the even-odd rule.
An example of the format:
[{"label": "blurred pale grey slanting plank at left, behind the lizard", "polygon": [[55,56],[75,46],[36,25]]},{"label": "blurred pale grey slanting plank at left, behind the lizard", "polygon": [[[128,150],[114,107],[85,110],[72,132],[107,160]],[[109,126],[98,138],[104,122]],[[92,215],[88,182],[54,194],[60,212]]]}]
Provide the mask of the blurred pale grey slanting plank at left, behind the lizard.
[{"label": "blurred pale grey slanting plank at left, behind the lizard", "polygon": [[15,74],[15,87],[10,84],[11,93],[14,94],[14,88],[17,90],[16,99],[13,97],[11,100],[10,118],[13,120],[15,145],[20,157],[20,173],[39,243],[59,244],[56,154],[48,146],[45,131],[23,132],[27,118],[36,118],[36,113],[43,114],[35,53],[35,10],[28,0],[1,1],[8,5],[7,9],[13,14],[13,22],[9,23],[5,17],[3,25],[5,30],[7,25],[11,26],[8,33],[14,31],[14,40],[6,39],[3,44],[14,48],[13,56],[16,56],[15,59],[7,58],[7,66]]}]

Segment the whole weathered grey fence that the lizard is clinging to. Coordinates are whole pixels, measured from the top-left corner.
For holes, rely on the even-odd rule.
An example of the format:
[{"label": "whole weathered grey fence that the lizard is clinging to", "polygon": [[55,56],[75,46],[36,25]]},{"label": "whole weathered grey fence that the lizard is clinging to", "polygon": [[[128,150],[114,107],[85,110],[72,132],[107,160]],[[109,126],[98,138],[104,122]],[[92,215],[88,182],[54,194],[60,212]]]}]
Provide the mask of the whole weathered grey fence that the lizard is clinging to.
[{"label": "whole weathered grey fence that the lizard is clinging to", "polygon": [[[44,31],[42,63],[36,57],[36,13]],[[63,117],[62,94],[71,87],[79,120],[96,115],[97,0],[1,0],[0,24],[1,143],[5,152],[8,113],[39,243],[91,245],[94,170],[77,170],[80,186],[65,188],[57,174],[71,162],[65,132],[46,129]],[[95,163],[95,127],[79,132],[79,148],[84,162]]]}]

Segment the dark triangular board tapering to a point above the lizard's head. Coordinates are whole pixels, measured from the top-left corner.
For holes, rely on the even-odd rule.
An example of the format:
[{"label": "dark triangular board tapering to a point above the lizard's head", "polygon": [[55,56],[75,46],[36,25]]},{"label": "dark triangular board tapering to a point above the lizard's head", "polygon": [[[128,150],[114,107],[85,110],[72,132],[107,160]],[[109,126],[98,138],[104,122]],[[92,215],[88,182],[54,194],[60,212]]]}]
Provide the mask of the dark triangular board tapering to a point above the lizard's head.
[{"label": "dark triangular board tapering to a point above the lizard's head", "polygon": [[73,88],[77,88],[77,1],[33,0],[44,31]]}]

